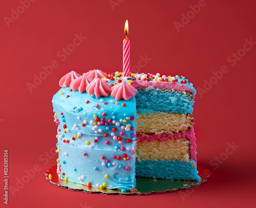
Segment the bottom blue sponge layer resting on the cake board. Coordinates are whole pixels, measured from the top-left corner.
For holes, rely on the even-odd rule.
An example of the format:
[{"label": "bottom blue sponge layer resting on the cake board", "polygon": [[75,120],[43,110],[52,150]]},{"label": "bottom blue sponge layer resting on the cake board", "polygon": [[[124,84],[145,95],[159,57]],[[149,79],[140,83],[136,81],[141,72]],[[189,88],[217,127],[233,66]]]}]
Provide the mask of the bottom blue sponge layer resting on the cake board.
[{"label": "bottom blue sponge layer resting on the cake board", "polygon": [[196,163],[190,159],[184,161],[136,161],[136,176],[163,179],[193,179],[201,180],[198,176]]}]

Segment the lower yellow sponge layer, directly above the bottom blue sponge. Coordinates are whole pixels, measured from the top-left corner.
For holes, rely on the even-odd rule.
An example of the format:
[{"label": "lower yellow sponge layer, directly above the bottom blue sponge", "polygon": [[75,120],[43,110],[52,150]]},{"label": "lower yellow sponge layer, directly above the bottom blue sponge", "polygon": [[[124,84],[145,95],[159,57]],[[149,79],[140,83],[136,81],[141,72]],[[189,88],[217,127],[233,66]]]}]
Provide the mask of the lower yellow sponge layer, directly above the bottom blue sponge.
[{"label": "lower yellow sponge layer, directly above the bottom blue sponge", "polygon": [[137,142],[137,160],[189,162],[190,142],[186,138]]}]

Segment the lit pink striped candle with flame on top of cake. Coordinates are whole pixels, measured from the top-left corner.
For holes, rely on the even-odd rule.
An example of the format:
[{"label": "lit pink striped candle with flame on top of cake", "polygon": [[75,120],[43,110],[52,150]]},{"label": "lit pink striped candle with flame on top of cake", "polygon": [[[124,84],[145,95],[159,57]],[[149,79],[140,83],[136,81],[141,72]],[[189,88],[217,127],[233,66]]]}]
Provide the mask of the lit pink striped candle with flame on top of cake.
[{"label": "lit pink striped candle with flame on top of cake", "polygon": [[130,75],[130,40],[127,38],[129,31],[128,20],[124,25],[125,39],[123,39],[123,76]]}]

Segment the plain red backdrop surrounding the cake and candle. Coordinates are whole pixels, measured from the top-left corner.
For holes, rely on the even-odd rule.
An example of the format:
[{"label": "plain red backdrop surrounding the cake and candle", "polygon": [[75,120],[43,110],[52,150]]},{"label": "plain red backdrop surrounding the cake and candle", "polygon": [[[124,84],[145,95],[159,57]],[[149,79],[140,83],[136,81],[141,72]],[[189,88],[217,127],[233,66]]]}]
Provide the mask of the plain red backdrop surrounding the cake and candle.
[{"label": "plain red backdrop surrounding the cake and candle", "polygon": [[[205,0],[206,6],[180,32],[174,22],[181,23],[181,15],[191,11],[190,5],[198,5],[197,0],[112,2],[117,3],[113,8],[110,1],[38,0],[9,22],[9,27],[5,17],[11,18],[21,3],[0,3],[0,158],[4,159],[4,149],[8,149],[9,188],[27,175],[25,170],[35,164],[40,169],[19,191],[12,195],[9,190],[9,204],[1,199],[0,206],[255,207],[256,45],[234,66],[227,62],[243,48],[244,39],[256,41],[255,1]],[[194,191],[106,196],[61,189],[45,179],[45,171],[57,158],[50,154],[48,161],[45,152],[56,143],[51,99],[59,89],[59,79],[71,70],[122,70],[125,19],[129,19],[131,67],[138,65],[140,56],[151,58],[140,72],[185,75],[197,89],[204,89],[205,80],[214,79],[212,71],[223,65],[229,68],[211,89],[196,97],[198,162],[210,170],[211,177]],[[87,39],[61,61],[58,51],[80,33]],[[59,66],[30,92],[27,83],[33,84],[34,74],[39,75],[42,66],[53,60]],[[239,146],[229,155],[225,153],[228,143]],[[220,156],[223,160],[215,162],[217,168],[212,162]],[[3,159],[0,175],[4,176]],[[3,197],[2,179],[0,193]]]}]

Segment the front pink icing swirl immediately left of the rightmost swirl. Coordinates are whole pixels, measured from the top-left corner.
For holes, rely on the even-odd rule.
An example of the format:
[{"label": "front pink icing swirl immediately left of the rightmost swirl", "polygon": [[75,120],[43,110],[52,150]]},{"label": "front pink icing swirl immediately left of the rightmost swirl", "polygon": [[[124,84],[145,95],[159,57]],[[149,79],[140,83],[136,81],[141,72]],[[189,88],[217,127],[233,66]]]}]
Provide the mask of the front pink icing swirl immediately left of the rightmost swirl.
[{"label": "front pink icing swirl immediately left of the rightmost swirl", "polygon": [[108,97],[112,89],[106,84],[106,81],[97,78],[86,87],[86,91],[90,96],[95,95],[96,98],[99,98],[100,96]]}]

